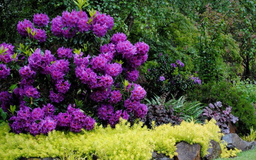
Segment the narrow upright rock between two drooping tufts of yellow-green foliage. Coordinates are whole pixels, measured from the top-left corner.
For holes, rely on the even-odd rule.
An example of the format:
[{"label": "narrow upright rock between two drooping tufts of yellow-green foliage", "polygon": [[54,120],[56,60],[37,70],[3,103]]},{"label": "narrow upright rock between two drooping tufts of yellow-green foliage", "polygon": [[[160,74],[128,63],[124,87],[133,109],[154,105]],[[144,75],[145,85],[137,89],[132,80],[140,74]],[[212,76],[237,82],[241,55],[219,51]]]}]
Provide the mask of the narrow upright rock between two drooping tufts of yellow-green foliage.
[{"label": "narrow upright rock between two drooping tufts of yellow-green foliage", "polygon": [[204,160],[215,159],[215,158],[219,157],[221,154],[220,144],[214,140],[211,140],[210,143],[211,143],[212,148],[209,148],[207,150],[207,152],[209,152],[209,154],[207,154],[204,157]]}]

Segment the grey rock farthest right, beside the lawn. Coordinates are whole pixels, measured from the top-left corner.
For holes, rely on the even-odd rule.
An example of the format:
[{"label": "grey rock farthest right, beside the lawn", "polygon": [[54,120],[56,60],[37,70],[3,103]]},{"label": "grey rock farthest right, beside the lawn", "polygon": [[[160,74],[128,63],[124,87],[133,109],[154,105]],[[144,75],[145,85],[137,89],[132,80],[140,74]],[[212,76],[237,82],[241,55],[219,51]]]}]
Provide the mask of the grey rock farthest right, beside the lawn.
[{"label": "grey rock farthest right, beside the lawn", "polygon": [[253,149],[254,146],[256,145],[256,142],[246,142],[235,133],[226,134],[225,136],[222,137],[222,140],[225,140],[228,143],[228,149],[237,148],[244,151],[248,149]]}]

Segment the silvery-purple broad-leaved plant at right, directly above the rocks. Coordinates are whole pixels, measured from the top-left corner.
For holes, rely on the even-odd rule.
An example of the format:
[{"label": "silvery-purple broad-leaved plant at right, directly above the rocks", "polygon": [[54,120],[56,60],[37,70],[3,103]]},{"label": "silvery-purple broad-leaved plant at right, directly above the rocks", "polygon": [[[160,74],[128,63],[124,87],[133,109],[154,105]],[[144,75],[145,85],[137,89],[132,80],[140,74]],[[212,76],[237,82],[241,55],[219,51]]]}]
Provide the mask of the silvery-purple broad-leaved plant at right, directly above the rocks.
[{"label": "silvery-purple broad-leaved plant at right, directly above the rocks", "polygon": [[[209,108],[210,107],[210,108]],[[232,107],[224,107],[220,101],[214,103],[209,103],[209,107],[205,107],[203,115],[207,116],[209,119],[215,119],[217,121],[217,125],[220,127],[221,131],[224,133],[229,133],[228,121],[236,123],[238,121],[238,117],[233,116],[230,112]]]}]

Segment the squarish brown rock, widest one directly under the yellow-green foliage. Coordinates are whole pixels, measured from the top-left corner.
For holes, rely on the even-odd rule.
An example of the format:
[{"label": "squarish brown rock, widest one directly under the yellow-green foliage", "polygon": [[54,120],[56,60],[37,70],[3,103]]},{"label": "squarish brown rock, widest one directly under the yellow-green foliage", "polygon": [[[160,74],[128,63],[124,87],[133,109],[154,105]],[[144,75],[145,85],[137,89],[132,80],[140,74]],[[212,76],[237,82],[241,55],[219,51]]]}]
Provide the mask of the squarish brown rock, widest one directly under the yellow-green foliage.
[{"label": "squarish brown rock, widest one directly under the yellow-green foliage", "polygon": [[176,144],[177,156],[174,156],[174,160],[200,160],[200,149],[199,144],[188,144],[186,142],[180,142]]}]

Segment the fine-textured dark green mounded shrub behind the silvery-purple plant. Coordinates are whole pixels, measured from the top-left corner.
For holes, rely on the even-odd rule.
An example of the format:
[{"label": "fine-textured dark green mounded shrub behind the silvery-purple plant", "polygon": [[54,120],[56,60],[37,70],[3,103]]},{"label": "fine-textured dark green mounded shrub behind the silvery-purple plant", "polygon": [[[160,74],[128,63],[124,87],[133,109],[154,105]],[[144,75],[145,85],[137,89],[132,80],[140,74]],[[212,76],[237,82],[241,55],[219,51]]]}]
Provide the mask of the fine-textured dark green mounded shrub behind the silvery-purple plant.
[{"label": "fine-textured dark green mounded shrub behind the silvery-purple plant", "polygon": [[232,107],[232,114],[239,118],[236,126],[241,134],[249,133],[250,127],[256,127],[255,108],[246,100],[243,92],[233,88],[231,83],[219,82],[203,84],[188,92],[190,100],[198,100],[208,106],[209,103],[221,101]]}]

